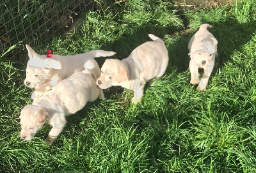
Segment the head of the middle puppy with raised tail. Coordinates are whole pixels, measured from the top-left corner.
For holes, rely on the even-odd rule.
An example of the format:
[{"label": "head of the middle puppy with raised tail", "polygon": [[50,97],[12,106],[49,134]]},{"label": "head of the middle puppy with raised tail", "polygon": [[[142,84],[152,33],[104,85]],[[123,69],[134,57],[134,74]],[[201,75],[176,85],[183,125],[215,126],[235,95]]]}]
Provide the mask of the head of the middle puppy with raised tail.
[{"label": "head of the middle puppy with raised tail", "polygon": [[101,68],[101,75],[96,83],[102,89],[119,86],[124,80],[129,80],[129,70],[118,59],[106,59]]}]

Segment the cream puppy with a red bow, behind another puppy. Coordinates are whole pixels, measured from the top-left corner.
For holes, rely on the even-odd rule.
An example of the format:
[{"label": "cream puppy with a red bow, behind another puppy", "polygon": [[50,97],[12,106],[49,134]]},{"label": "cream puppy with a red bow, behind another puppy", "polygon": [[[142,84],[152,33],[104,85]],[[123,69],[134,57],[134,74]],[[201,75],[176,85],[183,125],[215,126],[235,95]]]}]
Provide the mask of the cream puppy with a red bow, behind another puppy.
[{"label": "cream puppy with a red bow, behind another puppy", "polygon": [[[95,61],[95,57],[113,56],[115,52],[108,52],[104,50],[92,50],[84,54],[77,54],[75,56],[59,56],[38,55],[36,52],[26,45],[28,50],[29,61],[26,68],[26,79],[24,84],[28,87],[35,88],[31,98],[37,100],[45,91],[48,91],[58,82],[67,79],[77,71],[84,70],[86,61]],[[96,62],[96,61],[95,61]],[[96,77],[100,73],[95,73]]]}]

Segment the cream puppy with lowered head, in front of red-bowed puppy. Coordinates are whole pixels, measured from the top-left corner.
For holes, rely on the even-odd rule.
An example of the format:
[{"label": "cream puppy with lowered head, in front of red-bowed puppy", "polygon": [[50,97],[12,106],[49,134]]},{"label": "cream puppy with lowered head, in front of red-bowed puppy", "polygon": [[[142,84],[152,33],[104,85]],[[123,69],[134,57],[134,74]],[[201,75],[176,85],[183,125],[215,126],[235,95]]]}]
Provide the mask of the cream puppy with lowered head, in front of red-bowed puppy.
[{"label": "cream puppy with lowered head, in front of red-bowed puppy", "polygon": [[79,71],[67,79],[61,80],[38,100],[31,105],[26,105],[21,110],[21,139],[33,139],[36,132],[45,123],[48,123],[52,129],[45,142],[51,146],[63,130],[66,116],[83,109],[87,102],[93,102],[97,98],[104,99],[102,89],[96,84],[95,71],[100,73],[99,65],[94,61],[90,61],[86,65],[90,69],[86,68],[84,71]]}]

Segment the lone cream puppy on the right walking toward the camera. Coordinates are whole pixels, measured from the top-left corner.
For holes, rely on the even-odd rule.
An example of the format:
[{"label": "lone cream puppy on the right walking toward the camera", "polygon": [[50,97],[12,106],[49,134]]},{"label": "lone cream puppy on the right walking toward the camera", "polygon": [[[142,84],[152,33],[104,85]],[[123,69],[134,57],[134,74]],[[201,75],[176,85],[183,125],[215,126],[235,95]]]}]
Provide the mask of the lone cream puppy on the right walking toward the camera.
[{"label": "lone cream puppy on the right walking toward the camera", "polygon": [[[218,41],[207,30],[212,28],[209,24],[202,24],[199,30],[192,36],[189,41],[189,70],[191,73],[191,84],[199,84],[198,89],[205,91],[209,77],[214,67],[215,57],[218,56]],[[204,68],[204,75],[199,80],[198,68]]]}]

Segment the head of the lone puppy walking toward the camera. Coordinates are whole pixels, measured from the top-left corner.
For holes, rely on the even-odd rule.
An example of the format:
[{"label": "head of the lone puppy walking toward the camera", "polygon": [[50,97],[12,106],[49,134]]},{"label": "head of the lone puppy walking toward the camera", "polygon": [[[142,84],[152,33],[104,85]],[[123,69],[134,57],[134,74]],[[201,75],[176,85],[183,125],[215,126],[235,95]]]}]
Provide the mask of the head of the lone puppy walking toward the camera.
[{"label": "head of the lone puppy walking toward the camera", "polygon": [[196,51],[190,55],[190,58],[195,61],[196,66],[198,68],[209,68],[211,65],[212,57],[214,56],[214,52],[205,52],[205,51]]}]

